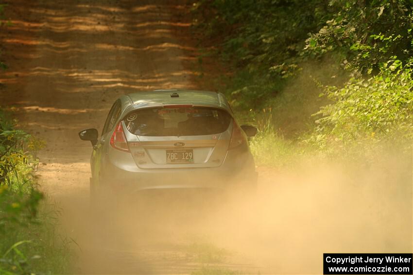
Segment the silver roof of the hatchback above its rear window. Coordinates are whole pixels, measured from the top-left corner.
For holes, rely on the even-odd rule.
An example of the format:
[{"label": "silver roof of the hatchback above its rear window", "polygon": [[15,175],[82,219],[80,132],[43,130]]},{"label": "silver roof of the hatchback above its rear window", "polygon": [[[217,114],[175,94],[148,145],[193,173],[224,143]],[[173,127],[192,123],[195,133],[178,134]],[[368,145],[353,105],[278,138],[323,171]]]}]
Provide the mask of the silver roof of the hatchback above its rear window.
[{"label": "silver roof of the hatchback above its rear window", "polygon": [[230,110],[228,102],[222,93],[209,91],[155,90],[128,94],[127,97],[129,97],[134,109],[158,105],[191,104],[194,106],[211,106]]}]

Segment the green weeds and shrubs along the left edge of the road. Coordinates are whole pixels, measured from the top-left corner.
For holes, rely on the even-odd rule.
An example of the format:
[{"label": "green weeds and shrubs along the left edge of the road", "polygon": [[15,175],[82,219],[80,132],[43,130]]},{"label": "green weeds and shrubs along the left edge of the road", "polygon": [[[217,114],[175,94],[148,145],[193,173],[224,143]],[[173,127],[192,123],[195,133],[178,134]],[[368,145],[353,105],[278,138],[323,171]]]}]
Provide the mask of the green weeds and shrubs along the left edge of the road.
[{"label": "green weeds and shrubs along the left edge of the road", "polygon": [[68,241],[55,230],[58,210],[37,189],[36,151],[44,142],[0,109],[0,274],[68,270]]}]

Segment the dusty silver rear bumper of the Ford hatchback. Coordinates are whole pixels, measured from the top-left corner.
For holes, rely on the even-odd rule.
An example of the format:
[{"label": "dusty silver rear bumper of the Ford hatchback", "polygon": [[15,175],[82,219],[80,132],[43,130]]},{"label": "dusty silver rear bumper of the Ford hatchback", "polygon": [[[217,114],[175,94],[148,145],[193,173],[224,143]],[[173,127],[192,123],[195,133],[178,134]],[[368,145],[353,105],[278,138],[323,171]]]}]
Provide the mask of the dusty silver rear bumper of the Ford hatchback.
[{"label": "dusty silver rear bumper of the Ford hatchback", "polygon": [[[253,163],[238,167],[172,168],[125,170],[109,163],[102,170],[99,185],[115,193],[134,193],[157,189],[250,189],[257,185],[258,173]],[[245,165],[249,164],[249,165]],[[252,164],[252,165],[251,165]]]}]

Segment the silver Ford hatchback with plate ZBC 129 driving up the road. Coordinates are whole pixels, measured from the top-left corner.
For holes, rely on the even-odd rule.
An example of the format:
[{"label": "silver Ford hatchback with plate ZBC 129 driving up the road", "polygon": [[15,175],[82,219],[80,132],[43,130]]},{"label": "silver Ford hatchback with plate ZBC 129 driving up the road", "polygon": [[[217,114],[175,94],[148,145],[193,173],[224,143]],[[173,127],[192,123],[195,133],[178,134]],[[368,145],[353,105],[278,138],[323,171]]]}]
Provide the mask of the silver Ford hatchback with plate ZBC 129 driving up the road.
[{"label": "silver Ford hatchback with plate ZBC 129 driving up the road", "polygon": [[101,187],[132,194],[153,189],[254,189],[257,172],[248,137],[222,93],[156,90],[123,95],[102,135],[91,141],[91,193]]}]

